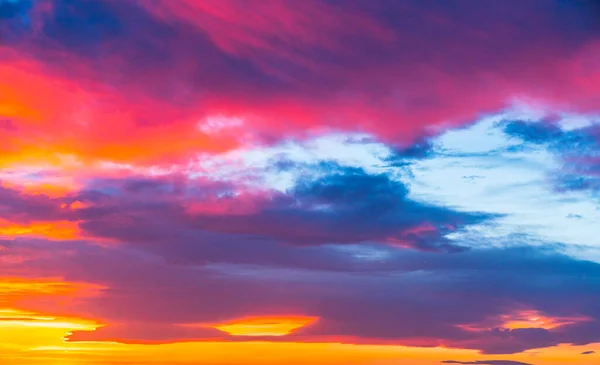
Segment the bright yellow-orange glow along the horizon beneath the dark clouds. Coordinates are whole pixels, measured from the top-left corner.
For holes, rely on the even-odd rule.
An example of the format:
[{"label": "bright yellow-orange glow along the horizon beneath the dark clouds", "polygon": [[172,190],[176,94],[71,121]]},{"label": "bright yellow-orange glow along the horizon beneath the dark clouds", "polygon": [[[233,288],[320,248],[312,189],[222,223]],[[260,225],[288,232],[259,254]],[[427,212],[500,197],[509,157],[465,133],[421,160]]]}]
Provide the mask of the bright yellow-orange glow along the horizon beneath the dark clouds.
[{"label": "bright yellow-orange glow along the horizon beneath the dark clouds", "polygon": [[[52,315],[19,309],[14,303],[36,297],[79,297],[100,287],[56,279],[0,280],[0,356],[7,365],[395,365],[410,359],[411,365],[434,365],[442,359],[473,361],[497,356],[467,349],[420,348],[394,345],[357,345],[341,343],[294,342],[173,342],[168,344],[121,344],[111,341],[75,341],[67,338],[73,331],[95,331],[100,321]],[[317,317],[245,317],[212,325],[232,336],[283,336],[310,325]],[[194,325],[188,325],[194,326]],[[577,364],[584,350],[598,346],[558,346],[544,351],[528,351],[503,358],[536,365]]]}]

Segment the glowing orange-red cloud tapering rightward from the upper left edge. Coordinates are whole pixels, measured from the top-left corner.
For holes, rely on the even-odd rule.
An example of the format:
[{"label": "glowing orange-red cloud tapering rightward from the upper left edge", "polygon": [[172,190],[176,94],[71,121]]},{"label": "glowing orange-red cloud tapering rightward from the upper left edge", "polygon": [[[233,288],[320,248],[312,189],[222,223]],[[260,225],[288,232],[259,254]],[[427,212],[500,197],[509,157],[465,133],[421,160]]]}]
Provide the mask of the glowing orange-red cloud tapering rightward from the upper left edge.
[{"label": "glowing orange-red cloud tapering rightward from the upper left edge", "polygon": [[[70,61],[81,68],[77,59]],[[134,102],[102,84],[74,82],[49,71],[14,53],[0,63],[0,117],[10,122],[0,128],[0,166],[61,166],[62,156],[84,162],[164,162],[236,144],[232,136],[199,130],[201,112],[144,97]],[[85,67],[79,71],[87,72]]]}]

